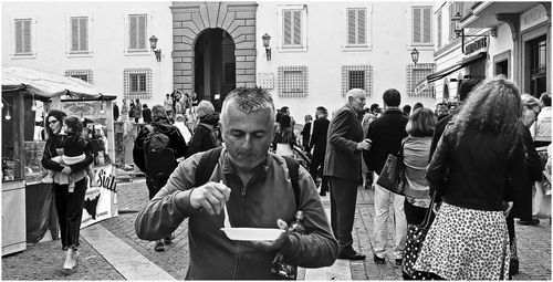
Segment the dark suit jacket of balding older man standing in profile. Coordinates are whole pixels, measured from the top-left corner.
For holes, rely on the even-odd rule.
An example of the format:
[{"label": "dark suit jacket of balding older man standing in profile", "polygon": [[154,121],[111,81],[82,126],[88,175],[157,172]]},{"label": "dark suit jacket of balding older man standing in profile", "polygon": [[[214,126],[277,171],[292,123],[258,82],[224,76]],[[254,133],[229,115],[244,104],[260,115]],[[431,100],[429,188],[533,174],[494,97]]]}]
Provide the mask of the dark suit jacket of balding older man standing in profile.
[{"label": "dark suit jacket of balding older man standing in profile", "polygon": [[363,128],[357,113],[349,105],[340,108],[332,118],[327,139],[324,176],[357,182],[361,175],[357,143],[363,140]]}]

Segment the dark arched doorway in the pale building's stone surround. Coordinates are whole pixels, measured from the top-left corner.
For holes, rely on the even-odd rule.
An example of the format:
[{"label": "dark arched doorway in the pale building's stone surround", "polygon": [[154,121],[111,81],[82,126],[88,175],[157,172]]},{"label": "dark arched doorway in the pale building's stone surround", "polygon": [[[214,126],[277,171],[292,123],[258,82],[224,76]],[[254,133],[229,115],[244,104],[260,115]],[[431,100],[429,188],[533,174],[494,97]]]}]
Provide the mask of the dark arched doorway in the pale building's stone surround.
[{"label": "dark arched doorway in the pale building's stone surround", "polygon": [[234,41],[222,29],[206,29],[194,46],[194,91],[220,112],[222,101],[236,87]]}]

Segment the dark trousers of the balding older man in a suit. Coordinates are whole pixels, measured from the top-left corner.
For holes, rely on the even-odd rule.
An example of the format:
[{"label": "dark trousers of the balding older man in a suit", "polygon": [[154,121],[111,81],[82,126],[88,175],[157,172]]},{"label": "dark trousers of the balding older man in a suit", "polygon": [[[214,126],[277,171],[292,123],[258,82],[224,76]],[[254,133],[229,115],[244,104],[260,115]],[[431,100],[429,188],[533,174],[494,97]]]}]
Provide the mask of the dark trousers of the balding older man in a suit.
[{"label": "dark trousers of the balding older man in a suit", "polygon": [[357,202],[357,181],[328,177],[331,184],[331,226],[340,250],[349,249]]}]

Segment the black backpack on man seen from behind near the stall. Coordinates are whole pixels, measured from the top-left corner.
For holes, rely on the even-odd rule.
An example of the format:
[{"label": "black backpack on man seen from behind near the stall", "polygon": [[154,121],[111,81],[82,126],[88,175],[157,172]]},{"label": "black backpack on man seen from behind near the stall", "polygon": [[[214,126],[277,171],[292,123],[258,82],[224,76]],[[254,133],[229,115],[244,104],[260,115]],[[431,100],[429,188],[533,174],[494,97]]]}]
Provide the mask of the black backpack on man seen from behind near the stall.
[{"label": "black backpack on man seen from behind near the stall", "polygon": [[146,125],[146,128],[149,130],[144,139],[146,174],[153,178],[168,178],[177,167],[169,136],[155,126]]}]

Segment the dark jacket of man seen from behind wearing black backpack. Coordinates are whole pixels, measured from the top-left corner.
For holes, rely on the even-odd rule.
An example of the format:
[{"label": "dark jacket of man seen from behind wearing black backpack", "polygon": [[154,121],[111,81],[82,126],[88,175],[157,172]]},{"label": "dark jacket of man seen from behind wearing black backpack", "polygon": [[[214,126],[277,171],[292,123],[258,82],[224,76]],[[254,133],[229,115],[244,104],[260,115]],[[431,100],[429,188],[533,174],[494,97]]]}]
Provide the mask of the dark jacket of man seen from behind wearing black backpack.
[{"label": "dark jacket of man seen from behind wearing black backpack", "polygon": [[[154,122],[150,123],[150,125],[155,128],[158,128],[160,133],[169,137],[170,147],[175,152],[176,159],[186,155],[186,150],[188,147],[186,146],[185,138],[177,127],[169,124],[169,121],[166,117],[156,117]],[[148,133],[148,128],[146,126],[143,126],[135,139],[135,146],[133,148],[133,159],[136,166],[146,175],[148,174],[148,171],[146,171],[146,161],[144,159],[144,140],[146,139]],[[177,163],[176,159],[168,161]]]}]

